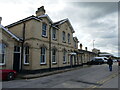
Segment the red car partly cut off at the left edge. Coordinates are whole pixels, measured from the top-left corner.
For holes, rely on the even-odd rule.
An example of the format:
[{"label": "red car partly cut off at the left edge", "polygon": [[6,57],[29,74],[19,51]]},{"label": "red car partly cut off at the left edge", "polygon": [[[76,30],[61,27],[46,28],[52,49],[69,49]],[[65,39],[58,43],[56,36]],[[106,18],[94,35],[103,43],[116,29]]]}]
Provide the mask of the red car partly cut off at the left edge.
[{"label": "red car partly cut off at the left edge", "polygon": [[0,79],[1,80],[13,80],[16,77],[16,71],[10,69],[1,69],[0,70]]}]

